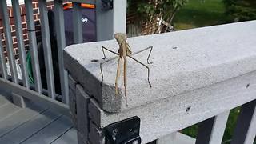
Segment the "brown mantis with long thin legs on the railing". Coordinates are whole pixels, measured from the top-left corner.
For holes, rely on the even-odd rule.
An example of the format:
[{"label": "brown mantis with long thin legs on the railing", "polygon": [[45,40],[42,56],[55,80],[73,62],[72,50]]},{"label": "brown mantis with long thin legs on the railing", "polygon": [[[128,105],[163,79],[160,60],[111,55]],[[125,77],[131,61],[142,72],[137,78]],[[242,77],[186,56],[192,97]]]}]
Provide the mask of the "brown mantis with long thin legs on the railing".
[{"label": "brown mantis with long thin legs on the railing", "polygon": [[[153,50],[153,46],[149,46],[149,47],[146,47],[143,50],[139,50],[137,52],[132,53],[131,49],[130,49],[130,46],[129,46],[128,42],[127,42],[126,34],[117,33],[117,34],[114,34],[114,38],[117,40],[118,45],[119,45],[119,49],[118,49],[117,53],[114,52],[113,50],[109,50],[106,47],[102,46],[102,52],[103,52],[103,55],[104,55],[103,59],[106,59],[106,54],[105,54],[104,50],[107,50],[107,51],[117,55],[114,58],[106,59],[106,61],[100,63],[100,69],[101,69],[101,74],[102,74],[102,82],[103,82],[102,65],[104,63],[106,63],[106,62],[110,62],[111,60],[114,60],[115,58],[118,58],[118,69],[117,69],[117,75],[116,75],[116,78],[115,78],[115,94],[116,95],[118,94],[118,80],[119,80],[119,77],[120,77],[121,60],[123,59],[123,67],[124,67],[123,68],[123,76],[124,76],[123,77],[124,78],[123,81],[124,81],[125,96],[126,96],[126,79],[127,79],[127,74],[126,74],[127,60],[126,60],[126,57],[128,57],[128,58],[133,59],[135,62],[138,62],[142,66],[146,67],[146,69],[147,69],[147,81],[148,81],[148,83],[149,83],[149,85],[151,87],[151,83],[150,83],[150,68],[149,68],[149,66],[146,66],[142,62],[139,62],[138,59],[133,58],[132,55],[141,53],[142,51],[145,51],[145,50],[150,50],[150,53],[149,53],[149,55],[147,57],[147,64],[152,64],[152,62],[149,62],[149,58],[150,58],[150,54],[151,54],[151,52]],[[127,98],[127,96],[126,96],[126,98]]]}]

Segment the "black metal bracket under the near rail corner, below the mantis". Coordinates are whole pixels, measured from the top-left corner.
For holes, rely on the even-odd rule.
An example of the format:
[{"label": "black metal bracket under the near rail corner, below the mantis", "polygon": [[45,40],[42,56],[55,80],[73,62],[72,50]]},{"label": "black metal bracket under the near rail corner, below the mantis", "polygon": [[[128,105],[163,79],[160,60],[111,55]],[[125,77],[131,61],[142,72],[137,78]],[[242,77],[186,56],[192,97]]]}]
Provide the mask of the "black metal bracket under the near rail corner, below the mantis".
[{"label": "black metal bracket under the near rail corner, below the mantis", "polygon": [[105,128],[106,144],[140,144],[140,118],[133,117],[116,122]]}]

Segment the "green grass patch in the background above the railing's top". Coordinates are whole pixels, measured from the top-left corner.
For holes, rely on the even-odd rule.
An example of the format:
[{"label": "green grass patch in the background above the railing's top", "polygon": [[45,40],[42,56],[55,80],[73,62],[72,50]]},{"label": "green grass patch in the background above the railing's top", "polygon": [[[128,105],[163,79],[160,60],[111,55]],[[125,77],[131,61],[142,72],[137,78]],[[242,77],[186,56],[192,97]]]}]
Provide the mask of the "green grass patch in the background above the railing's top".
[{"label": "green grass patch in the background above the railing's top", "polygon": [[190,0],[174,18],[175,30],[213,26],[232,22],[222,0]]}]

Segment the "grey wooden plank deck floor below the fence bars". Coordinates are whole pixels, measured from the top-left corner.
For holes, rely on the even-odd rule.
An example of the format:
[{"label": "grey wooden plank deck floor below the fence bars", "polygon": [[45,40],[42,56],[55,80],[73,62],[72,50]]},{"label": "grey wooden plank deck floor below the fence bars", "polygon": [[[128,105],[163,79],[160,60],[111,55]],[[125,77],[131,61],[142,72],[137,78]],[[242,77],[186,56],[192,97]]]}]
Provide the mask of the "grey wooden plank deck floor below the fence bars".
[{"label": "grey wooden plank deck floor below the fence bars", "polygon": [[15,106],[0,95],[0,144],[77,144],[70,118],[44,106]]}]

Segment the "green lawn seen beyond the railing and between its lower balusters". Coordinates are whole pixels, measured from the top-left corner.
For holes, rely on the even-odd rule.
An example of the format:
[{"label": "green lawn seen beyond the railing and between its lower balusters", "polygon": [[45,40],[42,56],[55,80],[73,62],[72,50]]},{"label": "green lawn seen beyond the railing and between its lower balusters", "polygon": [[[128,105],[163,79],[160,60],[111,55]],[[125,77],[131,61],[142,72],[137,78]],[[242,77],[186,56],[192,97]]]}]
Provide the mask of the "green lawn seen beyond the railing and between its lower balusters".
[{"label": "green lawn seen beyond the railing and between its lower balusters", "polygon": [[[233,22],[233,20],[225,14],[225,7],[223,6],[222,0],[190,0],[186,6],[183,6],[178,11],[173,24],[175,30],[186,30],[230,22]],[[239,111],[239,108],[230,110],[222,144],[230,144]],[[190,126],[182,130],[182,133],[196,138],[198,125]],[[256,144],[256,142],[254,143]]]}]

